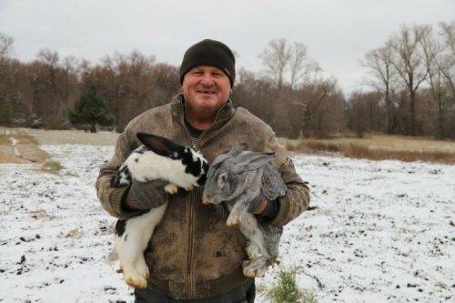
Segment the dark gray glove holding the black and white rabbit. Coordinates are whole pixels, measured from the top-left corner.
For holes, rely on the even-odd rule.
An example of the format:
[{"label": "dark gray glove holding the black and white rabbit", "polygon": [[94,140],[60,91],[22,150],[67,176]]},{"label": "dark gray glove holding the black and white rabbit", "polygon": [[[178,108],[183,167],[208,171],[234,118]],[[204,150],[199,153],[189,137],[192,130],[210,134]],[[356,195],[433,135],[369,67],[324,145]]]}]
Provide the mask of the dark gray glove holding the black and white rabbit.
[{"label": "dark gray glove holding the black and white rabbit", "polygon": [[133,179],[128,191],[128,197],[137,209],[144,210],[160,207],[167,201],[165,186],[168,183],[163,180],[139,182]]}]

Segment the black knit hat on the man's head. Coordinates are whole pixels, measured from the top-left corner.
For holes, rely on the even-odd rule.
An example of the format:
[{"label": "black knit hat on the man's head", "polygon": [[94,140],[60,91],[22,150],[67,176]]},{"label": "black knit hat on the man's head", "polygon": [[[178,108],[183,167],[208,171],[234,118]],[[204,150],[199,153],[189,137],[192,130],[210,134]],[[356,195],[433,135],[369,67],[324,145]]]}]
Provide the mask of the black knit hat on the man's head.
[{"label": "black knit hat on the man's head", "polygon": [[187,49],[180,66],[180,84],[190,69],[197,66],[215,66],[229,78],[230,86],[236,79],[236,58],[227,45],[216,40],[202,40]]}]

